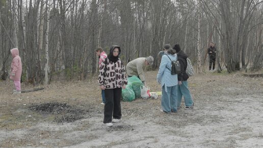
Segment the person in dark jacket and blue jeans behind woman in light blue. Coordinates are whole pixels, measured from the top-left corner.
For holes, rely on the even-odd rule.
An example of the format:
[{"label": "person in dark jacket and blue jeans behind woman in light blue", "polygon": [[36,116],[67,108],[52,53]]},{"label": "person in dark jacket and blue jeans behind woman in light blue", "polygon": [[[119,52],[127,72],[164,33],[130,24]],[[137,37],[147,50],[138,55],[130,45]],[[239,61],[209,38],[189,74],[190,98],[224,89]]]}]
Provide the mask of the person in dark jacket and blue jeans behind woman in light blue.
[{"label": "person in dark jacket and blue jeans behind woman in light blue", "polygon": [[178,90],[177,90],[177,109],[180,109],[182,96],[185,99],[185,109],[192,109],[194,107],[194,102],[192,95],[188,89],[188,78],[186,73],[187,68],[187,58],[185,52],[181,51],[180,45],[175,44],[173,49],[176,51],[177,59],[181,66],[181,73],[178,74]]}]

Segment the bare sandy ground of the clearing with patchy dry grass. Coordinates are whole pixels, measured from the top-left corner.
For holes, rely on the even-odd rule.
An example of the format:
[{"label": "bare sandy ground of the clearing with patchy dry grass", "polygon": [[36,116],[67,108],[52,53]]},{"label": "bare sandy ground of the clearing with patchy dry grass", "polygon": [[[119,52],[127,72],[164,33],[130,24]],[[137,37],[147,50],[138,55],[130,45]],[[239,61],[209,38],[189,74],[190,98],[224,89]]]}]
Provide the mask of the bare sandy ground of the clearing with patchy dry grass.
[{"label": "bare sandy ground of the clearing with patchy dry grass", "polygon": [[[156,73],[146,74],[151,91],[161,91]],[[189,79],[193,109],[182,102],[177,113],[163,113],[161,96],[122,101],[113,127],[102,124],[96,79],[18,95],[12,82],[0,82],[0,147],[263,147],[263,78],[197,74]]]}]

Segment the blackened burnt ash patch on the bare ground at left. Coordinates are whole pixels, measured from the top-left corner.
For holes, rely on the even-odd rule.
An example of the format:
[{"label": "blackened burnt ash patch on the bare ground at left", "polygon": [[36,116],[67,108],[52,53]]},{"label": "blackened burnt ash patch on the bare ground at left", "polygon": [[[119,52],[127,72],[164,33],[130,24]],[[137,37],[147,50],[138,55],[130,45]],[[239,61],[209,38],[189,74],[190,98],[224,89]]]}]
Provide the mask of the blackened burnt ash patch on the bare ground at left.
[{"label": "blackened burnt ash patch on the bare ground at left", "polygon": [[83,119],[84,115],[89,112],[88,110],[81,109],[77,106],[71,106],[66,103],[44,103],[31,105],[29,110],[41,113],[55,115],[55,122],[73,122]]}]

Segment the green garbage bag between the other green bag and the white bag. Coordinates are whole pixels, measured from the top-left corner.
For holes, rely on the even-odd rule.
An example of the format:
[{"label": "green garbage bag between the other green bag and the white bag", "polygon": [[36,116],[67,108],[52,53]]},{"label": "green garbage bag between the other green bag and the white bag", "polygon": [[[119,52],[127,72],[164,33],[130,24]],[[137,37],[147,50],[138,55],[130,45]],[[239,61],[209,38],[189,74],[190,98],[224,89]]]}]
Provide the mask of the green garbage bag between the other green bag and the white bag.
[{"label": "green garbage bag between the other green bag and the white bag", "polygon": [[129,77],[128,79],[128,85],[131,85],[133,87],[135,98],[141,97],[141,85],[143,85],[142,81],[136,77]]}]

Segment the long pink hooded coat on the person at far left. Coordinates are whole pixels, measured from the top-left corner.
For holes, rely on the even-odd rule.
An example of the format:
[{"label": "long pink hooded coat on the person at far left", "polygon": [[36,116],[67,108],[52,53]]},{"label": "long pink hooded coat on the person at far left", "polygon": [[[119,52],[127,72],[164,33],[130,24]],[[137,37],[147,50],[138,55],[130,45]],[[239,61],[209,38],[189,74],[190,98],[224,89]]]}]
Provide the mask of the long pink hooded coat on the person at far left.
[{"label": "long pink hooded coat on the person at far left", "polygon": [[[13,57],[12,64],[11,64],[11,75],[10,79],[20,81],[21,74],[22,74],[22,63],[21,58],[19,57],[19,52],[17,48],[13,48],[11,50],[11,54]],[[12,73],[15,73],[15,76],[12,76]]]}]

